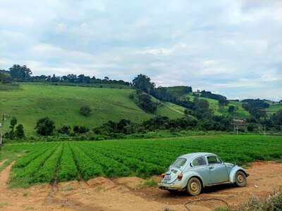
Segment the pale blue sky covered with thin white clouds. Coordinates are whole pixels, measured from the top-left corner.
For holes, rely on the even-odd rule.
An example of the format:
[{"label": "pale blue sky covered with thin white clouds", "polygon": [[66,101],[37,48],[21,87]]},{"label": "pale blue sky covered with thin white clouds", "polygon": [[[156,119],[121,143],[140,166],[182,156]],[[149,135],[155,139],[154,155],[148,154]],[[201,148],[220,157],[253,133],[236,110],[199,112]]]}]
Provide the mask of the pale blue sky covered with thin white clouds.
[{"label": "pale blue sky covered with thin white clouds", "polygon": [[0,70],[282,99],[281,0],[1,0]]}]

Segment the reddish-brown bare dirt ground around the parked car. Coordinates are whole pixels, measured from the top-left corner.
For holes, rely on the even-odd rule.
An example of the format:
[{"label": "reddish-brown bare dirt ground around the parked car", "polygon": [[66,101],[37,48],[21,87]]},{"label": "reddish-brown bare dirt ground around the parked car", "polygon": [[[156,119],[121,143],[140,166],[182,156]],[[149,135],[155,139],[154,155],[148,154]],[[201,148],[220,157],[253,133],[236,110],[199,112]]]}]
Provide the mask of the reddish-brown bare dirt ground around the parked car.
[{"label": "reddish-brown bare dirt ground around the parked car", "polygon": [[[0,174],[0,210],[185,210],[189,200],[220,198],[235,208],[250,196],[269,196],[282,186],[282,164],[255,162],[247,169],[247,186],[233,185],[204,188],[200,196],[185,192],[161,191],[156,186],[139,188],[144,180],[137,177],[89,181],[68,181],[56,186],[36,185],[30,188],[8,189],[11,165]],[[159,179],[159,177],[156,177]],[[193,203],[190,210],[212,210],[223,203],[212,201]]]}]

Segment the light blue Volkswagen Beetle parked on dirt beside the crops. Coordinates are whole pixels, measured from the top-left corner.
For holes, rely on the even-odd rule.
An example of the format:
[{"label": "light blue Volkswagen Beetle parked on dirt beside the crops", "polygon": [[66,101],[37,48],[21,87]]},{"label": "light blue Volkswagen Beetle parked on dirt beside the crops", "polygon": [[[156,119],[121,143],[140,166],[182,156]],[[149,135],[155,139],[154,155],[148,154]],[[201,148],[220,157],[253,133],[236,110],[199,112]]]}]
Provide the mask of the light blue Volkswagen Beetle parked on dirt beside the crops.
[{"label": "light blue Volkswagen Beetle parked on dirt beside the crops", "polygon": [[171,193],[184,189],[197,196],[205,186],[231,183],[243,187],[247,184],[247,176],[249,174],[242,167],[224,163],[215,154],[190,153],[173,161],[168,171],[161,174],[158,186]]}]

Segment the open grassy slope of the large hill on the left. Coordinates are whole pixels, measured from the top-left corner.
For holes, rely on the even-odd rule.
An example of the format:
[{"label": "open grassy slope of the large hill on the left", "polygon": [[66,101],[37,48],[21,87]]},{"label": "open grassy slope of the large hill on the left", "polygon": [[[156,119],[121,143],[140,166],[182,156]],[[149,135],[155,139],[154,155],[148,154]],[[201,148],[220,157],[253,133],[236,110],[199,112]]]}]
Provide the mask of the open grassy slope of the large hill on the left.
[{"label": "open grassy slope of the large hill on the left", "polygon": [[[102,85],[103,87],[103,85]],[[119,121],[122,118],[133,122],[142,122],[155,115],[166,115],[170,118],[182,117],[184,108],[166,103],[157,108],[155,114],[145,113],[129,94],[134,89],[70,87],[52,84],[20,83],[0,84],[0,114],[8,114],[4,132],[8,129],[11,116],[23,124],[26,134],[35,134],[35,125],[40,117],[49,117],[62,125],[84,125],[90,129],[108,120]],[[80,115],[80,106],[87,105],[92,113],[85,117]]]}]

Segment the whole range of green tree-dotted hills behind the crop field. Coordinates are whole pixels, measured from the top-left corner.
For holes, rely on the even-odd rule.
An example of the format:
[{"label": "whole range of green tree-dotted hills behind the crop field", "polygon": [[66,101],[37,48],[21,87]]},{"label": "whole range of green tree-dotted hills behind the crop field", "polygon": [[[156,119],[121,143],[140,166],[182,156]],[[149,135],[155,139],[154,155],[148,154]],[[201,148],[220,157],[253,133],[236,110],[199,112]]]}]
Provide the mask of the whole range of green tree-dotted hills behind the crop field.
[{"label": "whole range of green tree-dotted hills behind the crop field", "polygon": [[[156,116],[166,117],[163,122],[166,127],[155,129],[171,131],[200,129],[228,132],[232,130],[233,120],[238,118],[245,119],[249,132],[261,124],[267,125],[268,129],[281,131],[280,121],[277,120],[280,118],[279,110],[273,110],[280,108],[278,103],[259,99],[228,101],[225,96],[211,91],[192,92],[192,87],[185,86],[156,88],[151,79],[142,74],[129,83],[109,77],[96,79],[73,74],[62,77],[31,76],[32,71],[25,65],[13,65],[9,71],[0,72],[0,91],[4,96],[0,99],[0,111],[18,117],[23,123],[18,129],[23,130],[24,127],[27,135],[35,134],[34,129],[37,129],[37,134],[46,135],[39,132],[38,125],[35,126],[35,122],[43,117],[54,121],[54,131],[48,132],[48,135],[57,132],[70,134],[72,130],[75,134],[83,134],[97,131],[97,127],[102,129],[100,134],[109,134],[107,130],[110,127],[107,124],[121,120],[129,121],[127,134],[146,132],[140,127],[145,127],[142,124]],[[25,83],[7,83],[4,80],[7,78]],[[190,117],[196,123],[188,123]],[[10,131],[6,127],[10,139],[14,138],[14,127]]]}]

